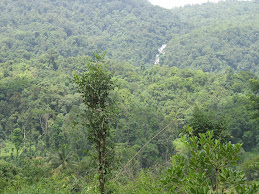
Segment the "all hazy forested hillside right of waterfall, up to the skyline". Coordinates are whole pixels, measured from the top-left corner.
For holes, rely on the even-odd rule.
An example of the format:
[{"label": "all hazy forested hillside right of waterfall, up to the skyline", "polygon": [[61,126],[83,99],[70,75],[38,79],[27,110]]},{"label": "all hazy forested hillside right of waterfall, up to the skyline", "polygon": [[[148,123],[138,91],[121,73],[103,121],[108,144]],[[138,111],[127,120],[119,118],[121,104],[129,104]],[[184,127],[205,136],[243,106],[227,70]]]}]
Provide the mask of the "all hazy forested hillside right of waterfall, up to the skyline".
[{"label": "all hazy forested hillside right of waterfall, up to the skyline", "polygon": [[259,72],[259,2],[226,1],[172,10],[193,30],[168,43],[162,64],[219,72]]}]

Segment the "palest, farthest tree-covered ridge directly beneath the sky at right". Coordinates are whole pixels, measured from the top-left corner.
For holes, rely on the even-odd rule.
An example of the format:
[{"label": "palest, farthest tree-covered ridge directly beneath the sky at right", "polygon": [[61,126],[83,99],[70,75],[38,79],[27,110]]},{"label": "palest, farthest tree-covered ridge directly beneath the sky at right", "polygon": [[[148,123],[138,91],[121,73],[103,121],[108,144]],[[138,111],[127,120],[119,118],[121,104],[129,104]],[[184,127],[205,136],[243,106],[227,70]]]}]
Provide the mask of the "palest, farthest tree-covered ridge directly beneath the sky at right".
[{"label": "palest, farthest tree-covered ridge directly beneath the sky at right", "polygon": [[172,12],[176,13],[180,19],[191,20],[191,23],[199,28],[224,20],[229,23],[238,23],[245,18],[255,19],[254,17],[258,16],[258,1],[227,0],[202,5],[187,5],[174,8]]}]

